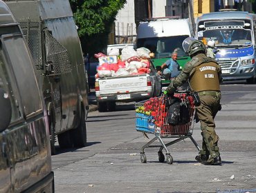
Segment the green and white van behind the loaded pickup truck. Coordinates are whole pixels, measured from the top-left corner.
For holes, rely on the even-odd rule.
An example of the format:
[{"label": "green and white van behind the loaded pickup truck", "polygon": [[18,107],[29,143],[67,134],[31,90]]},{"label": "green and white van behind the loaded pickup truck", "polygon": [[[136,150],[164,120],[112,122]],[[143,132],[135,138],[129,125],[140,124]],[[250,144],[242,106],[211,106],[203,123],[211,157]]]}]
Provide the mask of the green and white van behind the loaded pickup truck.
[{"label": "green and white van behind the loaded pickup truck", "polygon": [[[190,60],[182,48],[182,42],[187,37],[194,37],[190,19],[179,17],[152,18],[141,21],[137,30],[136,47],[148,48],[154,57],[152,62],[155,68],[161,66],[172,57],[172,52],[178,52],[178,63],[183,67]],[[170,84],[169,80],[162,79],[162,90]]]}]

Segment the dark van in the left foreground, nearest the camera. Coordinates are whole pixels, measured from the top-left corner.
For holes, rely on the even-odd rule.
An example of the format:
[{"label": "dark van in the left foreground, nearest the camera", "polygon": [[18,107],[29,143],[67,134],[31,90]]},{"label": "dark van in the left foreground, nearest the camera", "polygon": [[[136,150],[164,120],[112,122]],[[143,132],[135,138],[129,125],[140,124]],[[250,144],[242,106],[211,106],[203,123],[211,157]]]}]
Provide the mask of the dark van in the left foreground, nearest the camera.
[{"label": "dark van in the left foreground, nearest the camera", "polygon": [[54,192],[48,116],[33,58],[0,1],[0,192]]}]

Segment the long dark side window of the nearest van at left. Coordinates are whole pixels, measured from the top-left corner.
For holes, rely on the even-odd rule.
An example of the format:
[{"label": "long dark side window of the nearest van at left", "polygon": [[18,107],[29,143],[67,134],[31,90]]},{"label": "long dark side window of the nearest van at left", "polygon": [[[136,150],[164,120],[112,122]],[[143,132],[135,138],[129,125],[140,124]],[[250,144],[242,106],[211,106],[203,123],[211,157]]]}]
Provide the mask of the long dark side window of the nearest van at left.
[{"label": "long dark side window of the nearest van at left", "polygon": [[[2,38],[3,51],[10,53],[8,59],[10,63],[12,63],[12,70],[15,73],[15,77],[19,80],[17,85],[25,115],[28,116],[29,114],[42,111],[42,101],[40,99],[37,83],[35,81],[26,81],[36,78],[33,61],[31,57],[29,57],[30,53],[28,53],[26,44],[22,39],[23,37],[21,35],[3,35]],[[28,61],[30,61],[29,64]],[[26,79],[24,79],[24,76],[26,76]]]}]

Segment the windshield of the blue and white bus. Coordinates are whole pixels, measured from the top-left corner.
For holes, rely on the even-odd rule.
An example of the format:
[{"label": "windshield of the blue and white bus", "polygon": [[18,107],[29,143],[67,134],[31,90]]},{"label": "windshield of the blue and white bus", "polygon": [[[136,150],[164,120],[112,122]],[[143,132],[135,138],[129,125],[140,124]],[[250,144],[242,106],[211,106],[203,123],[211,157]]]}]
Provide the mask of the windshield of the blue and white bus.
[{"label": "windshield of the blue and white bus", "polygon": [[205,21],[199,23],[197,37],[203,43],[212,39],[217,47],[246,47],[252,45],[250,23],[244,21]]}]

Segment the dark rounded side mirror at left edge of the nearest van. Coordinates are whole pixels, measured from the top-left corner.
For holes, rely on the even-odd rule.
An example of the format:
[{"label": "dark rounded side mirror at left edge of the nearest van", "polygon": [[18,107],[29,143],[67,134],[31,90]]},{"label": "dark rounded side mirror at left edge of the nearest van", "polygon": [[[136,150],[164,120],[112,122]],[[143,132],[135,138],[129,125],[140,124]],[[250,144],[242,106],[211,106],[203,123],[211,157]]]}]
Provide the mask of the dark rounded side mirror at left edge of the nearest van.
[{"label": "dark rounded side mirror at left edge of the nearest van", "polygon": [[12,118],[12,106],[7,92],[0,88],[0,132],[6,130]]}]

